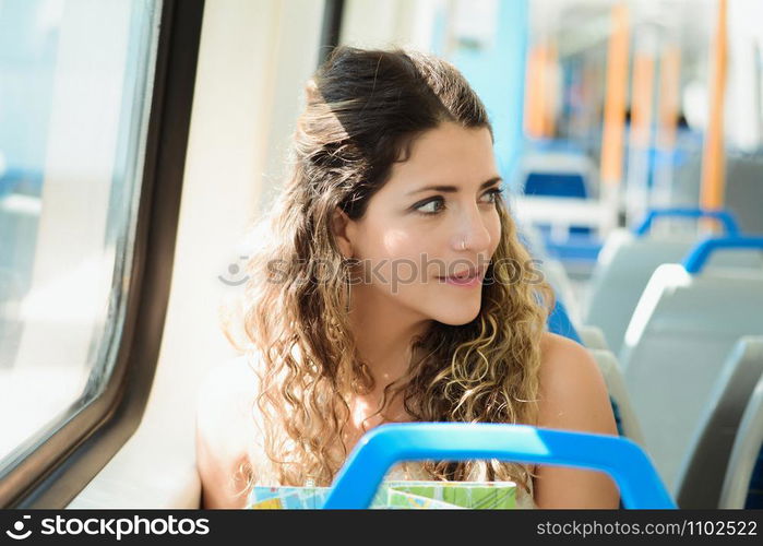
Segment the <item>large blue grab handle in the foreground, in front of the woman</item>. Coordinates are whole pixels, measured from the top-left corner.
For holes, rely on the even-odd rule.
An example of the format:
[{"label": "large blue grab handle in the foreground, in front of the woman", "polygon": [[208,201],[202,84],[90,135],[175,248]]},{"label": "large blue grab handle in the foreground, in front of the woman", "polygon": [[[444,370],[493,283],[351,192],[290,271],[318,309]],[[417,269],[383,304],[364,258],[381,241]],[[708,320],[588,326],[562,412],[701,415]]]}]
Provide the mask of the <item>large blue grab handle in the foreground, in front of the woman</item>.
[{"label": "large blue grab handle in the foreground, in front of the woman", "polygon": [[488,423],[374,428],[356,446],[323,508],[367,508],[393,464],[431,459],[500,459],[603,471],[620,487],[627,508],[676,508],[646,453],[628,439]]}]

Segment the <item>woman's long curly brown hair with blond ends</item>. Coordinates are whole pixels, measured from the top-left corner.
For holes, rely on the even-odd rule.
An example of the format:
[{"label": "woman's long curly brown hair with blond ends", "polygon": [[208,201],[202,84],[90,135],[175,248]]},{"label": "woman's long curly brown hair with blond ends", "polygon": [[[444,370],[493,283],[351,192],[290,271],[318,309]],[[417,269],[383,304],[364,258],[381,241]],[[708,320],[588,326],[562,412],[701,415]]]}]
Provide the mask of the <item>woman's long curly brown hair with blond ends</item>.
[{"label": "woman's long curly brown hair with blond ends", "polygon": [[[272,467],[254,473],[281,485],[332,482],[347,456],[348,402],[373,388],[349,329],[350,265],[333,236],[332,214],[338,207],[360,218],[393,164],[440,123],[492,135],[464,76],[420,52],[336,48],[306,94],[291,174],[255,230],[240,317],[225,318],[228,339],[251,357],[260,381],[253,403]],[[496,207],[501,238],[478,316],[463,325],[432,321],[413,342],[406,375],[385,385],[378,414],[400,395],[414,420],[536,423],[552,294],[543,280],[527,281],[537,277],[530,257],[505,202],[499,198]],[[508,479],[525,490],[532,478],[528,465],[500,461],[427,461],[424,468],[434,479]],[[249,474],[251,486],[259,479]]]}]

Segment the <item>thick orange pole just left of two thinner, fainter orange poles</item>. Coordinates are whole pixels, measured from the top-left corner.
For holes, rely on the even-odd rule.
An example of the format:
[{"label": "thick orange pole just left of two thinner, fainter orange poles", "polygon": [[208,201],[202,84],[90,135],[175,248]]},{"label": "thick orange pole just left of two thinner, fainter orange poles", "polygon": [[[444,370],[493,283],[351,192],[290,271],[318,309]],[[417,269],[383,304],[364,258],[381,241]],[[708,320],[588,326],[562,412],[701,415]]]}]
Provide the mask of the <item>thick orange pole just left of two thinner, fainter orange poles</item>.
[{"label": "thick orange pole just left of two thinner, fainter orange poles", "polygon": [[628,7],[612,7],[612,33],[607,52],[607,96],[601,138],[601,180],[617,187],[622,180],[628,86]]}]

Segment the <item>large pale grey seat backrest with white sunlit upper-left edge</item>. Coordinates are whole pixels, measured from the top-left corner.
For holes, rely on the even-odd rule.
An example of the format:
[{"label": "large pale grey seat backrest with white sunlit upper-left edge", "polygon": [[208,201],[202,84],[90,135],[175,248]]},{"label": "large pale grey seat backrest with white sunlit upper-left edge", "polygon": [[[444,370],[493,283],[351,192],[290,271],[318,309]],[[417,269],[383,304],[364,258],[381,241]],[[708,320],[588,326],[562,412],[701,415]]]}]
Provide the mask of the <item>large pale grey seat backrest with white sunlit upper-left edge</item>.
[{"label": "large pale grey seat backrest with white sunlit upper-left edge", "polygon": [[742,335],[763,335],[763,272],[657,268],[625,332],[621,366],[668,489],[718,375]]}]

